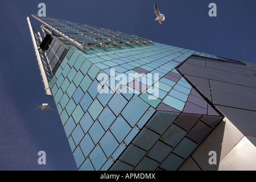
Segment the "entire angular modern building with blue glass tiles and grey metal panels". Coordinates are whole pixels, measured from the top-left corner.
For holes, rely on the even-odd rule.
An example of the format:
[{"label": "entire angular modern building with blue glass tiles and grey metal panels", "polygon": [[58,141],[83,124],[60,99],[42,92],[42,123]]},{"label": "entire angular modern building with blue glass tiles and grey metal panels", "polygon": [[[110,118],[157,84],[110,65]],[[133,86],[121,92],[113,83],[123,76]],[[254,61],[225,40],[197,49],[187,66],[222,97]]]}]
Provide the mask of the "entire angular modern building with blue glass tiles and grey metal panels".
[{"label": "entire angular modern building with blue glass tiles and grey metal panels", "polygon": [[256,65],[48,17],[28,20],[79,170],[255,170]]}]

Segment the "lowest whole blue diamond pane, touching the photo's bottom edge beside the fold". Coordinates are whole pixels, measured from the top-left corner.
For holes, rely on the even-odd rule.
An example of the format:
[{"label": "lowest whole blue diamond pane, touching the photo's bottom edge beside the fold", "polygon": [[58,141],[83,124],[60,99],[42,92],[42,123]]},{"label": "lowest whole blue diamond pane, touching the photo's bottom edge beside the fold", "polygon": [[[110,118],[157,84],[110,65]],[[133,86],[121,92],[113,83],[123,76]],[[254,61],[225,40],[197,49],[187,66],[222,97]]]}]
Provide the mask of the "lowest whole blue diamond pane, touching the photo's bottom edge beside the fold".
[{"label": "lowest whole blue diamond pane, touching the photo's bottom edge beside the fold", "polygon": [[106,162],[107,159],[104,152],[101,150],[100,146],[96,146],[93,149],[89,158],[92,161],[92,164],[96,171],[98,171],[102,167],[102,165]]}]

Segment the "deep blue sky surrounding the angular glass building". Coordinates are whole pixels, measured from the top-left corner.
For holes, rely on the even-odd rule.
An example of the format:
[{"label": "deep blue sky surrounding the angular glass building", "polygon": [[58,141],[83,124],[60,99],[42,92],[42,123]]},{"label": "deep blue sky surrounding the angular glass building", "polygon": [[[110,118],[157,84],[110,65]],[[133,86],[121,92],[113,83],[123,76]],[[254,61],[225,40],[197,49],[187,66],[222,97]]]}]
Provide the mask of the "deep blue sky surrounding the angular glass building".
[{"label": "deep blue sky surrounding the angular glass building", "polygon": [[[256,63],[255,0],[0,0],[0,170],[76,169],[55,102],[44,93],[27,26],[40,2],[53,18]],[[211,2],[217,17],[208,15]],[[154,3],[166,16],[163,24],[154,21]],[[33,110],[42,103],[55,110]],[[40,150],[46,165],[38,164]]]}]

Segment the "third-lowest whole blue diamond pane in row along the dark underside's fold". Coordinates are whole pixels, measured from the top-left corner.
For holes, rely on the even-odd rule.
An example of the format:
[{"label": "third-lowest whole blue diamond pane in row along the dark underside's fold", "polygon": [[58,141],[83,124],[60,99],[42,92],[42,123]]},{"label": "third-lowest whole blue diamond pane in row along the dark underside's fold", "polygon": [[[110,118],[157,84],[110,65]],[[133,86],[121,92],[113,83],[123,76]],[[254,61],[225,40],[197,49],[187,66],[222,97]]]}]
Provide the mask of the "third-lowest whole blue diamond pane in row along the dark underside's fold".
[{"label": "third-lowest whole blue diamond pane in row along the dark underside's fold", "polygon": [[129,133],[130,129],[131,127],[128,125],[125,119],[123,119],[121,115],[117,117],[117,119],[115,119],[114,123],[110,127],[110,130],[112,131],[115,138],[117,138],[118,142],[122,142],[122,140]]}]

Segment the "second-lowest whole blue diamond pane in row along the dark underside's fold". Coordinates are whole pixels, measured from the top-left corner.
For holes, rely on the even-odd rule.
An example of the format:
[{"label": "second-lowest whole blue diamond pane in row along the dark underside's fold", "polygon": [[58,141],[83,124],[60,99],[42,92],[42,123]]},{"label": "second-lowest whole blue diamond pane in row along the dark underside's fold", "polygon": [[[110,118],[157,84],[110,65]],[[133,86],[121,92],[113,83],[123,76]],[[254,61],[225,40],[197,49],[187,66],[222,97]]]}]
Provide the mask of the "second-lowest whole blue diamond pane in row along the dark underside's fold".
[{"label": "second-lowest whole blue diamond pane in row along the dark underside's fold", "polygon": [[105,152],[107,158],[113,153],[115,148],[118,146],[117,140],[114,138],[110,131],[107,131],[100,140],[100,146]]}]

